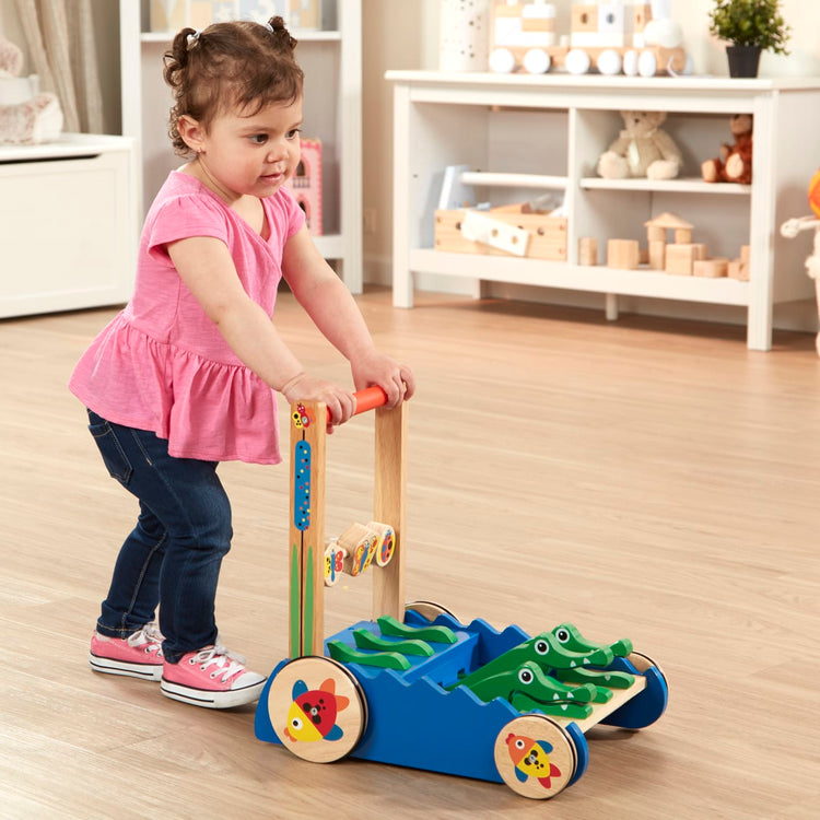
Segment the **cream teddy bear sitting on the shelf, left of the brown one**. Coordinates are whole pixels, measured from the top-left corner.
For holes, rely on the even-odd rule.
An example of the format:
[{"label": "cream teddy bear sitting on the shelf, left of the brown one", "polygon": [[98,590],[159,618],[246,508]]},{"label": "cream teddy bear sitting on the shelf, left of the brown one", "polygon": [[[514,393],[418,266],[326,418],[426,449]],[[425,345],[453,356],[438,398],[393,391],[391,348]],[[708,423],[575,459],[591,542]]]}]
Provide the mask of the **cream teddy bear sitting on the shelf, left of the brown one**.
[{"label": "cream teddy bear sitting on the shelf, left of the brown one", "polygon": [[672,138],[660,128],[663,112],[621,112],[625,128],[598,159],[605,179],[647,177],[673,179],[682,156]]}]

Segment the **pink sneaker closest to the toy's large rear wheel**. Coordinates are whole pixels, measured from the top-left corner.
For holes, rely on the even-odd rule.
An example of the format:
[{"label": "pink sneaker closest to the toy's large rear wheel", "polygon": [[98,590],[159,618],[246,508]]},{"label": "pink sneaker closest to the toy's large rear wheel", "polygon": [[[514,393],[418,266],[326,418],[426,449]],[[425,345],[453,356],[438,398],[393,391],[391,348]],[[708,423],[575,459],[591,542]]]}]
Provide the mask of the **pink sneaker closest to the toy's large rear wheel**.
[{"label": "pink sneaker closest to the toy's large rear wheel", "polygon": [[253,703],[266,677],[245,669],[245,658],[224,646],[207,646],[183,655],[178,664],[167,660],[162,671],[162,693],[183,703],[206,708],[229,708]]}]

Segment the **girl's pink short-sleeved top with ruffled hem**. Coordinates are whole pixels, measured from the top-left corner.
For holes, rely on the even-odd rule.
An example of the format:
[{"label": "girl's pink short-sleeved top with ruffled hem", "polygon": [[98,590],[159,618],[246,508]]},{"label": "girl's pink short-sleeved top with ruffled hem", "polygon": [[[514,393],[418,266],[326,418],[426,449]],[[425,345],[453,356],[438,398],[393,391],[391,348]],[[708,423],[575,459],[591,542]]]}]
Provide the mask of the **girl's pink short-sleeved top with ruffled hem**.
[{"label": "girl's pink short-sleeved top with ruffled hem", "polygon": [[69,382],[86,407],[166,438],[172,456],[282,460],[274,391],[231,350],[165,251],[175,239],[221,239],[245,291],[272,316],[284,243],[305,216],[286,188],[262,207],[267,241],[199,180],[171,173],[145,218],[133,296],[92,342]]}]

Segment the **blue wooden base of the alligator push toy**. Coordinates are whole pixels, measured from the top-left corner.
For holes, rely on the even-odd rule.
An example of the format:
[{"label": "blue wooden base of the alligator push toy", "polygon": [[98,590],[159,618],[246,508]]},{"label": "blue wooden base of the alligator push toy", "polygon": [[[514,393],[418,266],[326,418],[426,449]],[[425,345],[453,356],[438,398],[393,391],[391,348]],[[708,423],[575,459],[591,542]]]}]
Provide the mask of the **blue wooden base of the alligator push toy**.
[{"label": "blue wooden base of the alligator push toy", "polygon": [[[407,612],[405,622],[411,626],[430,625],[412,610]],[[459,672],[489,663],[530,636],[515,625],[499,632],[481,619],[462,624],[447,614],[438,616],[434,624],[453,630],[456,643],[431,644],[435,649],[432,657],[408,656],[410,668],[406,671],[345,665],[364,692],[368,712],[362,739],[350,757],[501,783],[493,747],[499,733],[520,713],[504,700],[483,703],[466,688],[446,691],[444,687],[456,681]],[[375,623],[363,621],[332,635],[328,642],[341,641],[354,646],[352,633],[356,629],[378,634]],[[286,663],[283,660],[273,670],[259,699],[256,736],[260,740],[281,743],[277,733],[284,727],[271,724],[268,692]],[[610,668],[641,673],[620,658]],[[654,668],[644,676],[646,688],[604,723],[641,728],[660,717],[668,698],[666,681]],[[575,747],[576,768],[571,781],[574,783],[587,769],[589,749],[576,724],[570,723],[564,729]]]}]

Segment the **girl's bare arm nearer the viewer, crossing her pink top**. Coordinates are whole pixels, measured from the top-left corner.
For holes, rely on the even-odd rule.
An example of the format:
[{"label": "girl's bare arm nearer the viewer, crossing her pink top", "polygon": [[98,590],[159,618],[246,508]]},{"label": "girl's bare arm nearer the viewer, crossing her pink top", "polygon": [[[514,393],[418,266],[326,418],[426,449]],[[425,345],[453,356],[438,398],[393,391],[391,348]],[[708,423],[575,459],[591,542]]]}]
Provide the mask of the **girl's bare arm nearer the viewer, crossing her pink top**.
[{"label": "girl's bare arm nearer the viewer, crossing her pink top", "polygon": [[288,401],[324,401],[332,424],[350,419],[355,409],[353,396],[305,374],[270,317],[245,292],[223,242],[197,236],[169,243],[167,251],[183,282],[231,349],[262,382]]}]

